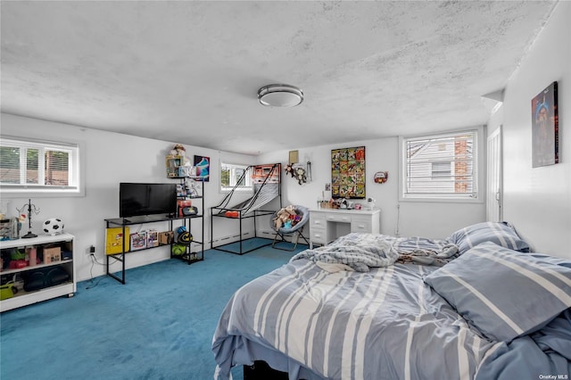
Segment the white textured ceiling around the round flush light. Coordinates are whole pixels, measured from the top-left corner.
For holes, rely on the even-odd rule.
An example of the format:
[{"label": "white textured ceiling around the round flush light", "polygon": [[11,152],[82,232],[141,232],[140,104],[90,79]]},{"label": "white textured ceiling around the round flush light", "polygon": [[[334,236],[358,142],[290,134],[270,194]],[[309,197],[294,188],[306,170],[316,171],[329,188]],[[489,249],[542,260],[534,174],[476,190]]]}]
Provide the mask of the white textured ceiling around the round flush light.
[{"label": "white textured ceiling around the round flush light", "polygon": [[2,112],[247,154],[482,125],[555,4],[2,1]]}]

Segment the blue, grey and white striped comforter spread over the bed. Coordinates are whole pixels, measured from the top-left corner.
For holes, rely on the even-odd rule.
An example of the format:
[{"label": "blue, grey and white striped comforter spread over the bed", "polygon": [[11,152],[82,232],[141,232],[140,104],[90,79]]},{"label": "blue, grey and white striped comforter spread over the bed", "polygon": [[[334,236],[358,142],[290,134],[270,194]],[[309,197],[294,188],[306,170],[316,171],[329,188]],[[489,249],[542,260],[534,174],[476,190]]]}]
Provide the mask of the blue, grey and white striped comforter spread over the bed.
[{"label": "blue, grey and white striped comforter spread over the bed", "polygon": [[[434,244],[438,251],[446,242]],[[366,272],[331,273],[312,260],[292,260],[244,285],[228,302],[212,341],[214,378],[229,379],[230,368],[254,360],[288,372],[290,379],[473,379],[478,371],[497,378],[506,366],[525,361],[519,355],[540,355],[544,342],[533,336],[496,342],[469,324],[425,283],[438,269],[397,261]],[[534,334],[543,341],[567,334],[566,320],[560,318],[564,327],[551,329],[555,333],[545,326]],[[559,347],[559,338],[550,341],[552,347]],[[567,343],[564,350],[571,348]],[[548,358],[529,378],[550,370],[567,373],[569,362],[556,356],[562,365],[549,367]]]}]

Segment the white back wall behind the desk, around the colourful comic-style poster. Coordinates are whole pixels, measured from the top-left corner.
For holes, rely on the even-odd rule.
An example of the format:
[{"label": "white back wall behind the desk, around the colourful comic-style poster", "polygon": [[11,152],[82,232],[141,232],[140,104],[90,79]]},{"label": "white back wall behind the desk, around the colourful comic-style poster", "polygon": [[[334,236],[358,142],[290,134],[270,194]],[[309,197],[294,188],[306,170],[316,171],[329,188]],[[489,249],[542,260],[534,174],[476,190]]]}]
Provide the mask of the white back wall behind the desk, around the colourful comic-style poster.
[{"label": "white back wall behind the desk, around the colourful comic-style poster", "polygon": [[[464,126],[459,126],[464,127]],[[377,200],[381,209],[381,233],[395,235],[397,205],[399,204],[398,167],[399,140],[397,137],[361,140],[343,145],[322,145],[298,149],[300,162],[311,162],[312,182],[300,186],[294,178],[283,178],[284,205],[302,204],[315,208],[326,183],[331,183],[331,150],[351,146],[365,146],[366,192]],[[259,161],[287,164],[289,151],[262,154]],[[377,171],[388,171],[385,184],[373,182]],[[484,172],[483,172],[483,175]],[[399,233],[402,236],[442,238],[453,231],[485,220],[485,203],[458,202],[401,202]]]}]

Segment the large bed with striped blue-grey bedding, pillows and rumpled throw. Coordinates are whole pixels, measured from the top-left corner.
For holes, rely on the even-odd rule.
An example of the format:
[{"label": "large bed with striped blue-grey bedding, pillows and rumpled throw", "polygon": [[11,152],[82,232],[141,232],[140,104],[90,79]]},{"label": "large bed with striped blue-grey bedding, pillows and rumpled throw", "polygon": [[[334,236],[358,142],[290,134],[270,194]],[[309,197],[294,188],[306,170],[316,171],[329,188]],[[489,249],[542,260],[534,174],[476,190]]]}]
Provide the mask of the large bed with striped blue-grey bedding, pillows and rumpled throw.
[{"label": "large bed with striped blue-grey bedding, pillows and rumpled throw", "polygon": [[263,361],[290,379],[567,379],[571,260],[529,251],[485,222],[300,252],[229,300],[214,378]]}]

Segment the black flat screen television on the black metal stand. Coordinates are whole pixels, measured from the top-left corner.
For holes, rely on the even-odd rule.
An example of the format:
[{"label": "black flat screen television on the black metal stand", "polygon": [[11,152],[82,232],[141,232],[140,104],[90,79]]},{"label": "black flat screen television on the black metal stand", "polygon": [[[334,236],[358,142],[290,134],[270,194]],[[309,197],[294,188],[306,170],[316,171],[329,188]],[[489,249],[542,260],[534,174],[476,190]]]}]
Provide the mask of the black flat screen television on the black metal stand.
[{"label": "black flat screen television on the black metal stand", "polygon": [[119,216],[177,214],[177,184],[119,184]]}]

